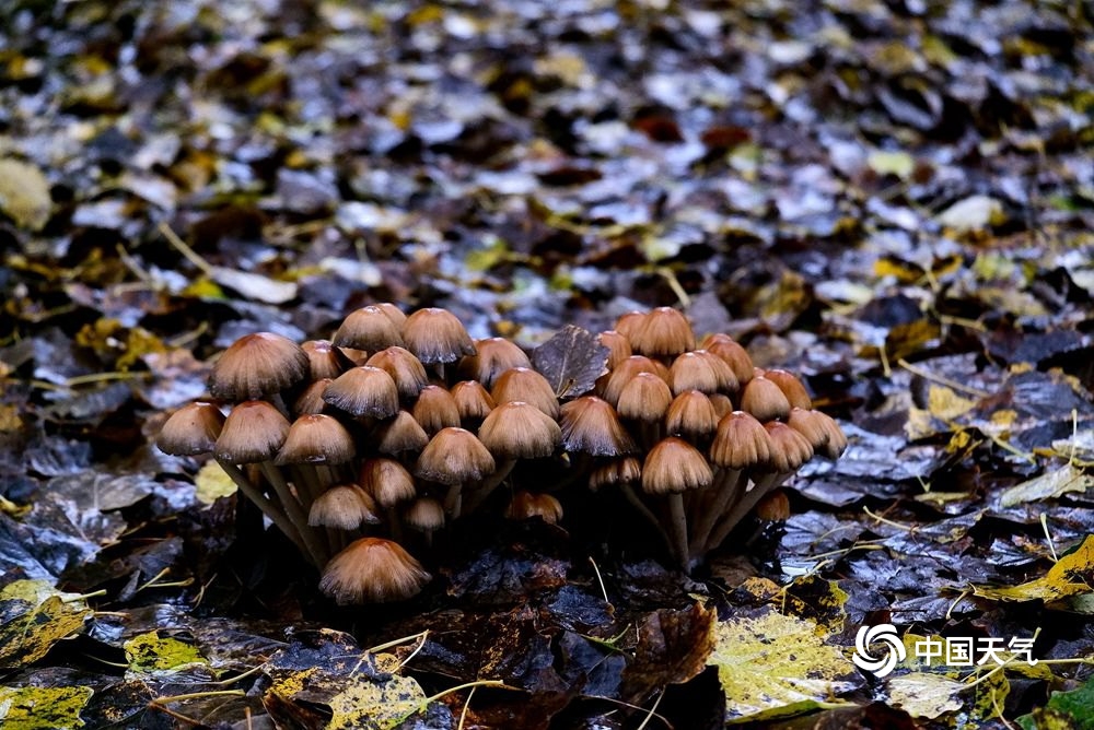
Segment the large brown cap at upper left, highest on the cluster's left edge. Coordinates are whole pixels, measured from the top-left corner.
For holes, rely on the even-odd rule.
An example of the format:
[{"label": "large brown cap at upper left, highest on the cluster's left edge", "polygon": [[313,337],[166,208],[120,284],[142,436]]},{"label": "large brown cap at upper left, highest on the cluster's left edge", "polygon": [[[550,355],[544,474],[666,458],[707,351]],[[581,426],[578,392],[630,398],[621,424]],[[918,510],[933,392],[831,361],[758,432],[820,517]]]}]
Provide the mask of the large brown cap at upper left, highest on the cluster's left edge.
[{"label": "large brown cap at upper left, highest on the cluster's left edge", "polygon": [[259,400],[300,382],[310,369],[299,344],[274,332],[255,332],[221,353],[209,375],[209,392],[223,400]]}]

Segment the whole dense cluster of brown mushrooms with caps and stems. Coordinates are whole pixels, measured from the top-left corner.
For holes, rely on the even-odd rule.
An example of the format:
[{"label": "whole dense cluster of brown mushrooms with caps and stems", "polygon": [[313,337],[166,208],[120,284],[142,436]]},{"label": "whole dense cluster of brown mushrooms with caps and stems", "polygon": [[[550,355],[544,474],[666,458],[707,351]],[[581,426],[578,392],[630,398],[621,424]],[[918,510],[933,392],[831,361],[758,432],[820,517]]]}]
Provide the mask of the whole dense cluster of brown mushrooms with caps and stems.
[{"label": "whole dense cluster of brown mushrooms with caps and stems", "polygon": [[675,309],[630,313],[598,339],[603,375],[561,402],[513,342],[473,340],[444,309],[371,305],[329,341],[241,338],[213,366],[212,400],[175,412],[158,443],[212,452],[342,604],[420,591],[430,576],[407,548],[499,485],[507,517],[559,521],[551,488],[512,484],[521,462],[565,454],[560,481],[618,490],[689,569],[805,461],[847,444],[794,376],[754,368],[724,334],[697,349]]}]

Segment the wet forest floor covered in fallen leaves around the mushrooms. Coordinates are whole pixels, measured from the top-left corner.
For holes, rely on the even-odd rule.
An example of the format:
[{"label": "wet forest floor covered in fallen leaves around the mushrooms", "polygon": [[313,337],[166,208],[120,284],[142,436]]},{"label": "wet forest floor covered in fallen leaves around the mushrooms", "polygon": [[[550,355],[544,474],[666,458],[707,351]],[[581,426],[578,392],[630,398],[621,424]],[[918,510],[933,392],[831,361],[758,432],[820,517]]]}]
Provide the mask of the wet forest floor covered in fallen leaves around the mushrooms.
[{"label": "wet forest floor covered in fallen leaves around the mushrooms", "polygon": [[[2,3],[0,723],[1092,727],[1091,12]],[[236,338],[382,301],[674,306],[850,448],[691,577],[578,501],[339,609],[152,444]]]}]

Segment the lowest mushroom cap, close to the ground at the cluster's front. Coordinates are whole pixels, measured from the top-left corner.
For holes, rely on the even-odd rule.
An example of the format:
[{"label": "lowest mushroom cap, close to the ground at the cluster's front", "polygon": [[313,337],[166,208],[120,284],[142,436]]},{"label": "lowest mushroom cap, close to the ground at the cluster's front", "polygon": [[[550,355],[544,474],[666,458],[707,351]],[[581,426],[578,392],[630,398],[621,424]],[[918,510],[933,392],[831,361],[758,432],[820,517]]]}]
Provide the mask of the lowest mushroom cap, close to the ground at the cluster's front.
[{"label": "lowest mushroom cap, close to the ground at the cluster's front", "polygon": [[354,540],[323,569],[319,590],[339,605],[401,601],[416,596],[430,575],[397,542]]}]

